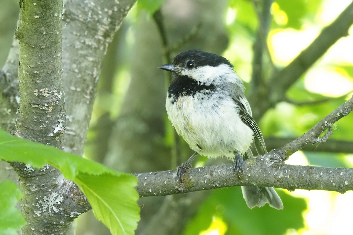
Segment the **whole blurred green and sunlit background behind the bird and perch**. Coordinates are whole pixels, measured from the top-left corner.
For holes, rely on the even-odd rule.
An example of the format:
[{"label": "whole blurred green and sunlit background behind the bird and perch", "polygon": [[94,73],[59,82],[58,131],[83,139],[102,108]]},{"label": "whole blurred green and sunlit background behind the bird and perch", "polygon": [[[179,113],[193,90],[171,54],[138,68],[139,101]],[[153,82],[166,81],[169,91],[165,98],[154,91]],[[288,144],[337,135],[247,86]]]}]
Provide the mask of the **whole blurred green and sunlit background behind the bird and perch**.
[{"label": "whole blurred green and sunlit background behind the bird and perch", "polygon": [[[353,29],[271,103],[266,84],[331,24],[350,0],[165,0],[137,2],[102,64],[84,157],[128,173],[175,169],[193,153],[165,111],[169,84],[158,66],[187,49],[228,58],[247,88],[268,150],[308,131],[353,94]],[[11,47],[18,1],[0,8],[0,67]],[[260,49],[259,49],[260,48]],[[259,67],[260,66],[260,67]],[[272,84],[275,86],[275,84]],[[258,102],[258,101],[261,102]],[[264,109],[263,103],[269,104]],[[353,167],[353,116],[327,143],[293,154],[288,164]],[[208,161],[198,156],[194,167]],[[141,198],[136,234],[352,234],[353,192],[277,189],[284,210],[247,208],[240,187]],[[76,234],[109,234],[92,212]]]}]

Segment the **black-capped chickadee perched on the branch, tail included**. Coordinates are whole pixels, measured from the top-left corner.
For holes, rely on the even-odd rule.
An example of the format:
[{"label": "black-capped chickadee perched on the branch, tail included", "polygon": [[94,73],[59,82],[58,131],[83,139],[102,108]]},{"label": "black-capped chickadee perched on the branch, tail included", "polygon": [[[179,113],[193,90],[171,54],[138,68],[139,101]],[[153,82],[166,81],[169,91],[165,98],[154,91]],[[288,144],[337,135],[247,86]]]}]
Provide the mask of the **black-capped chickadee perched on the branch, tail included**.
[{"label": "black-capped chickadee perched on the branch, tail included", "polygon": [[[239,174],[242,156],[253,157],[250,145],[266,153],[260,129],[252,118],[245,87],[224,57],[199,50],[188,50],[175,56],[172,64],[158,68],[173,73],[166,99],[168,117],[177,133],[195,151],[178,169],[179,177],[198,154],[234,159]],[[249,208],[269,203],[283,209],[274,188],[241,186]]]}]

